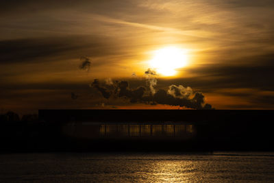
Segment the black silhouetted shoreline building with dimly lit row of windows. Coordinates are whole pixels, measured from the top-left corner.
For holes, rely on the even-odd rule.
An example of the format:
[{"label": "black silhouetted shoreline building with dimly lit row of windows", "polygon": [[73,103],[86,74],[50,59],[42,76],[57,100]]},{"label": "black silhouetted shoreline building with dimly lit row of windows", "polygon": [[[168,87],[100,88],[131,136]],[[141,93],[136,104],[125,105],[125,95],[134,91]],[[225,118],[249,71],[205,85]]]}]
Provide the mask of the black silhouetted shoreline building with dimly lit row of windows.
[{"label": "black silhouetted shoreline building with dimly lit row of windows", "polygon": [[39,110],[1,123],[1,152],[274,151],[273,110]]}]

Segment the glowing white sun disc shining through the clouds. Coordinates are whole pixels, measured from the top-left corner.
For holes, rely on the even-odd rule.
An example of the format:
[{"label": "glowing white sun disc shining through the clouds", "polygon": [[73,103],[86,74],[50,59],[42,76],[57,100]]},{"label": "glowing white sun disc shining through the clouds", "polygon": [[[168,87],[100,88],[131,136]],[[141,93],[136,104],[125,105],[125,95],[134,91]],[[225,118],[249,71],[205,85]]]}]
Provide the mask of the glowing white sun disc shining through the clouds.
[{"label": "glowing white sun disc shining through the clouds", "polygon": [[164,47],[153,53],[153,59],[149,61],[151,69],[165,76],[175,75],[175,69],[186,66],[188,60],[186,51],[177,47]]}]

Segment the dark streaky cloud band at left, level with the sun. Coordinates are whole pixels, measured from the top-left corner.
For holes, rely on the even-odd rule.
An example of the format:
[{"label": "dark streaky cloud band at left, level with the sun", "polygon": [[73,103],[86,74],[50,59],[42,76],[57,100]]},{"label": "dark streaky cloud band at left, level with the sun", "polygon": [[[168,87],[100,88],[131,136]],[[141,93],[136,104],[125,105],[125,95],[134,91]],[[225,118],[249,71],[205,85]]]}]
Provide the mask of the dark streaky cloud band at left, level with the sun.
[{"label": "dark streaky cloud band at left, level with the sun", "polygon": [[[114,49],[114,47],[116,49]],[[108,39],[97,36],[53,36],[0,40],[0,64],[13,62],[41,62],[52,58],[70,59],[79,56],[106,56],[118,54],[119,48]],[[53,59],[52,59],[53,60]]]}]

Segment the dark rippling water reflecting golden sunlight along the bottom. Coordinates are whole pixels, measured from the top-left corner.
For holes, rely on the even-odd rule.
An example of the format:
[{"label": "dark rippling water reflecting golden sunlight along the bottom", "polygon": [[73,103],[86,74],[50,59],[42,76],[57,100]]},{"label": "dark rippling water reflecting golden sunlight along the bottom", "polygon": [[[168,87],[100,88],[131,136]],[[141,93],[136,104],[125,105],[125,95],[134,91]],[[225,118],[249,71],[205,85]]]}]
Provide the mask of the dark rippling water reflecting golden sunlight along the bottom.
[{"label": "dark rippling water reflecting golden sunlight along the bottom", "polygon": [[0,182],[274,182],[274,153],[1,154]]}]

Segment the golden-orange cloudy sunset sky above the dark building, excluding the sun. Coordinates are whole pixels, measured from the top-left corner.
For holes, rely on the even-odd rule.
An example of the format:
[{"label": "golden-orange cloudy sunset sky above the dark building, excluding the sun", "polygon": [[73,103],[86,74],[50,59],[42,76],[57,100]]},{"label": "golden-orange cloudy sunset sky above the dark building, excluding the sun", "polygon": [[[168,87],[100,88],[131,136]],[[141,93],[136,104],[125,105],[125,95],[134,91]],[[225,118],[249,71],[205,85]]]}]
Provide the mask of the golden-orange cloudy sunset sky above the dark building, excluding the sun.
[{"label": "golden-orange cloudy sunset sky above the dark building, excluding the sun", "polygon": [[[274,109],[273,17],[272,0],[1,2],[0,110]],[[166,47],[187,56],[172,76],[149,64]]]}]

